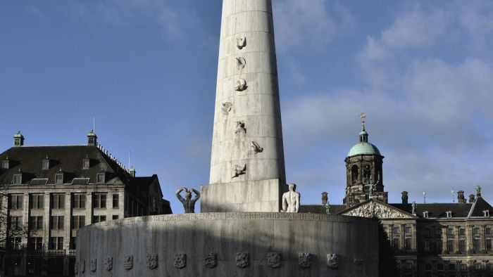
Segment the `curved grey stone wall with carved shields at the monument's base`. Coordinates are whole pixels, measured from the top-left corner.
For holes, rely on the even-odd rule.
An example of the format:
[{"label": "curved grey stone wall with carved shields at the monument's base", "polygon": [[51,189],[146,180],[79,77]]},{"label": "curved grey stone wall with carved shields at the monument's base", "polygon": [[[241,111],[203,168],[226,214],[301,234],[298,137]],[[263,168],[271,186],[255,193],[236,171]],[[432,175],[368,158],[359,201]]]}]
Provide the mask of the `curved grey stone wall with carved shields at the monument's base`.
[{"label": "curved grey stone wall with carved shields at the monument's base", "polygon": [[101,222],[77,232],[76,276],[378,276],[377,220],[226,212]]}]

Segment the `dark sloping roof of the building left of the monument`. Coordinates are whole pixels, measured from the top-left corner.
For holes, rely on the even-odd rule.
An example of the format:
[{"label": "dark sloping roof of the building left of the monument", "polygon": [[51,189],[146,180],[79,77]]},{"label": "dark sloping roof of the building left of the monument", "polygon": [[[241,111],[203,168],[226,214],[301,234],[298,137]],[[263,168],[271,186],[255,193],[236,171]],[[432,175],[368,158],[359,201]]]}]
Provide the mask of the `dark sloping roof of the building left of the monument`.
[{"label": "dark sloping roof of the building left of the monument", "polygon": [[[42,160],[49,158],[49,169],[42,169]],[[82,168],[82,161],[89,158],[89,169]],[[128,183],[130,175],[96,146],[22,146],[13,147],[0,154],[0,160],[8,160],[9,168],[0,169],[0,184],[13,183],[13,175],[23,173],[23,183],[32,179],[48,179],[55,183],[60,169],[65,183],[74,178],[89,178],[96,183],[96,174],[106,173],[105,183]]]}]

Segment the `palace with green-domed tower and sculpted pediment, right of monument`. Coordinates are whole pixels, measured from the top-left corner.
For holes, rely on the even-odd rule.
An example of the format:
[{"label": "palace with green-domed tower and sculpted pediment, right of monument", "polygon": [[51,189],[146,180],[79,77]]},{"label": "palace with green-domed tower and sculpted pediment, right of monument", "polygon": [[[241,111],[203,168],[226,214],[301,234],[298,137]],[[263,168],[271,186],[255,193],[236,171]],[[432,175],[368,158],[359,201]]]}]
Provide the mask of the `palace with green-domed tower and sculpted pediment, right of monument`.
[{"label": "palace with green-domed tower and sculpted pediment, right of monument", "polygon": [[[300,212],[380,219],[380,276],[493,277],[493,207],[480,186],[453,203],[389,203],[383,183],[383,158],[363,128],[345,159],[343,205],[302,205]],[[375,255],[377,253],[375,252]]]}]

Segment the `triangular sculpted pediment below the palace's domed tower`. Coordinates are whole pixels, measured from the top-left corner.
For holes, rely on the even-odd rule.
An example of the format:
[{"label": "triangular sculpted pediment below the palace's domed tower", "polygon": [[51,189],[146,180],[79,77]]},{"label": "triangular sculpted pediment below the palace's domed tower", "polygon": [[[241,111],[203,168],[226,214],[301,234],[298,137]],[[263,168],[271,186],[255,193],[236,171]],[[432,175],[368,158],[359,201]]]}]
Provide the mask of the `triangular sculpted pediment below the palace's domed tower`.
[{"label": "triangular sculpted pediment below the palace's domed tower", "polygon": [[375,199],[366,200],[339,212],[350,217],[376,217],[378,219],[414,219],[415,216]]}]

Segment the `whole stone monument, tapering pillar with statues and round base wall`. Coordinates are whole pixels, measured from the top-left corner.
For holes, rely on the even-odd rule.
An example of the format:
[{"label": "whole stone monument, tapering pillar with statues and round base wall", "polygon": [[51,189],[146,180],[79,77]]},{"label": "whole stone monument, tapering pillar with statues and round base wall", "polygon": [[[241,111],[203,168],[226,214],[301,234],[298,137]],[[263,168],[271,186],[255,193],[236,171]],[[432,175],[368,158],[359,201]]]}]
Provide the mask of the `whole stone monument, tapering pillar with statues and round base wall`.
[{"label": "whole stone monument, tapering pillar with statues and round base wall", "polygon": [[270,0],[223,0],[210,178],[199,214],[79,229],[75,276],[378,276],[376,219],[298,213],[294,184],[279,212],[287,185]]}]

